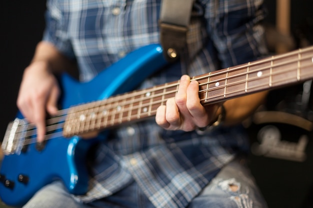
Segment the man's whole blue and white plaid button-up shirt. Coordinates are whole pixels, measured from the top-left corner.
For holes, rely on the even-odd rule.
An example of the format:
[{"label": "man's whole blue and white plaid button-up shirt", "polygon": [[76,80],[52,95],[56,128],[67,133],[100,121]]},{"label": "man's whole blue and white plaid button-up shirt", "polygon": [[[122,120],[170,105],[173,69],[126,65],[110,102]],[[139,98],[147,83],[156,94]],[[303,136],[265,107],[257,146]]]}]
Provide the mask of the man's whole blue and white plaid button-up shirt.
[{"label": "man's whole blue and white plaid button-up shirt", "polygon": [[[197,0],[187,71],[170,65],[140,87],[260,57],[265,52],[258,24],[263,18],[261,4],[262,0]],[[75,58],[80,80],[87,81],[128,52],[158,43],[159,6],[160,0],[48,0],[43,39]],[[117,128],[90,161],[89,191],[76,198],[100,199],[135,180],[155,207],[186,207],[223,165],[247,149],[241,130],[166,131],[154,120]]]}]

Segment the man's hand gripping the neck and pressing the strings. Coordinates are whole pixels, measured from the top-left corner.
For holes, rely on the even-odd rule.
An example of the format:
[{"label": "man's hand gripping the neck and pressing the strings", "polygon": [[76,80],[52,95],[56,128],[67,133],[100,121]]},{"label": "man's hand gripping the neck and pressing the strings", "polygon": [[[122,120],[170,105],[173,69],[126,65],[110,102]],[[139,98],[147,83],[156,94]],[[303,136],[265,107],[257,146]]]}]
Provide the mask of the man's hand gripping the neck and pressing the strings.
[{"label": "man's hand gripping the neck and pressing the strings", "polygon": [[159,106],[156,111],[156,123],[167,130],[192,131],[205,127],[216,119],[220,104],[203,107],[199,99],[199,84],[183,75],[174,98]]}]

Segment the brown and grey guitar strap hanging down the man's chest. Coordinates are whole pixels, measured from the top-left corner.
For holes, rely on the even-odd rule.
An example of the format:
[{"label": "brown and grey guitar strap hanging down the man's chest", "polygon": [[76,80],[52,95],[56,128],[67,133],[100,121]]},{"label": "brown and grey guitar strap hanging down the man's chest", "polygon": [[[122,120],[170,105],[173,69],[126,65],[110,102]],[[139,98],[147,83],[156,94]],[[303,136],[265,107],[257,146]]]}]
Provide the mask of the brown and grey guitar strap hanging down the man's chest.
[{"label": "brown and grey guitar strap hanging down the man's chest", "polygon": [[161,0],[160,42],[167,61],[188,60],[187,31],[194,0]]}]

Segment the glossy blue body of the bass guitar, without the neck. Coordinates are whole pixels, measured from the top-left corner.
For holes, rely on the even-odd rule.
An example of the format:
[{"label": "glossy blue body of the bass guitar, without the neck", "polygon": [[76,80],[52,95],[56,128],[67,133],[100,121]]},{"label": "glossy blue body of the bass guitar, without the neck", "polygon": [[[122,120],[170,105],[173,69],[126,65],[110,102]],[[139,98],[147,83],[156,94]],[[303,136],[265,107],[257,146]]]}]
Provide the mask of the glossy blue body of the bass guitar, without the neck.
[{"label": "glossy blue body of the bass guitar, without the neck", "polygon": [[[89,82],[79,83],[63,74],[59,80],[60,105],[66,109],[133,90],[165,64],[161,47],[152,44],[129,53]],[[22,118],[20,113],[17,117]],[[22,206],[40,188],[55,180],[61,180],[72,194],[85,194],[88,175],[84,164],[91,141],[60,136],[47,140],[42,150],[32,143],[20,154],[5,155],[0,169],[1,200],[9,206]]]}]

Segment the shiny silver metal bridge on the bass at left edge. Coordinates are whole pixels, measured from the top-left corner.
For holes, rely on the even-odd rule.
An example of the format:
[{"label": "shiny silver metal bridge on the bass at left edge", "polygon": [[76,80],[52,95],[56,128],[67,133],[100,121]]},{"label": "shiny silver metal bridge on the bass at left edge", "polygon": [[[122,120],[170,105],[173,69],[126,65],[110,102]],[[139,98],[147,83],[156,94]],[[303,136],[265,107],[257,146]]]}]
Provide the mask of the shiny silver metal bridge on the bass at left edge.
[{"label": "shiny silver metal bridge on the bass at left edge", "polygon": [[15,118],[7,125],[1,149],[5,155],[19,155],[25,141],[26,127],[25,121]]}]

